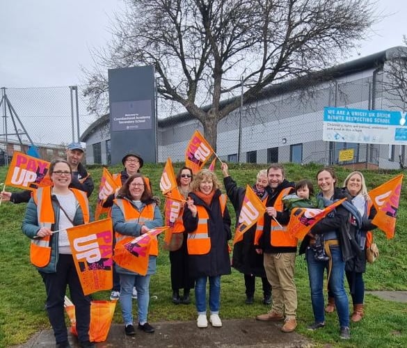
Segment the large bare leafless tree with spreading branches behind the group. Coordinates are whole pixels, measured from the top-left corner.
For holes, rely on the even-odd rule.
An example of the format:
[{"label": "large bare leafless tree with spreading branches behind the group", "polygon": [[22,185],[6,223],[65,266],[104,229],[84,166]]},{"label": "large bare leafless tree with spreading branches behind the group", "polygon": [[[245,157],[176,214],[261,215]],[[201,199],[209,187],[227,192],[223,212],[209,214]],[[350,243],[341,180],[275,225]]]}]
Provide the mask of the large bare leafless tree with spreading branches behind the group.
[{"label": "large bare leafless tree with spreading branches behind the group", "polygon": [[[216,125],[270,84],[324,69],[364,38],[372,0],[125,0],[113,40],[86,71],[90,109],[106,102],[106,68],[153,65],[158,93]],[[204,105],[209,105],[203,107]]]}]

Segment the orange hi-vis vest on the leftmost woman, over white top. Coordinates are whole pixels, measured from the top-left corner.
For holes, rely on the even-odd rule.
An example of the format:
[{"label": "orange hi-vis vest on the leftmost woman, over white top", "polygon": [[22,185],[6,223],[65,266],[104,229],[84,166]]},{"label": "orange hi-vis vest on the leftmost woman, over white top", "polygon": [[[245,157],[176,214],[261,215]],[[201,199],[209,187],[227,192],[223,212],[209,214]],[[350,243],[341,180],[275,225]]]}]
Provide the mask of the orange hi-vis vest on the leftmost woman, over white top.
[{"label": "orange hi-vis vest on the leftmost woman, over white top", "polygon": [[[55,223],[54,208],[51,201],[52,187],[39,187],[33,191],[33,200],[37,205],[38,225],[40,228],[51,228]],[[90,219],[89,202],[86,192],[78,189],[70,189],[74,193],[79,206],[81,207],[84,223],[88,223]],[[45,267],[51,260],[51,236],[44,238],[31,239],[30,259],[31,263],[36,267]]]}]

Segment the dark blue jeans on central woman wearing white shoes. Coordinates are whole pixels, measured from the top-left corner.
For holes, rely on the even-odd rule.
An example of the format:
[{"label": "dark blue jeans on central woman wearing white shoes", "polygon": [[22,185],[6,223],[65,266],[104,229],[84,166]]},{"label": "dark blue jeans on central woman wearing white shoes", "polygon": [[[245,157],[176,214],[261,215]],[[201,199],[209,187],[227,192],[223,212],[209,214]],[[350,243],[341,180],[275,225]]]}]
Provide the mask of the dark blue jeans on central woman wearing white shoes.
[{"label": "dark blue jeans on central woman wearing white shoes", "polygon": [[209,310],[218,314],[221,307],[221,276],[195,279],[195,304],[199,314],[207,313],[207,278],[209,278]]}]

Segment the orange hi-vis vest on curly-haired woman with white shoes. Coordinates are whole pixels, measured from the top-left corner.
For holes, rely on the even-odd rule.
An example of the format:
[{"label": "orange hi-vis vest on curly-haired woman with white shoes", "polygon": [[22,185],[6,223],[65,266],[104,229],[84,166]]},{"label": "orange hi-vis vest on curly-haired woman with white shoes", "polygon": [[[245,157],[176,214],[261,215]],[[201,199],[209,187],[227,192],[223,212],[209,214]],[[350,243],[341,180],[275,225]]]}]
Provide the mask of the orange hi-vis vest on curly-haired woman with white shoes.
[{"label": "orange hi-vis vest on curly-haired woman with white shoes", "polygon": [[[219,196],[219,204],[221,205],[221,213],[225,212],[226,195]],[[211,237],[209,237],[208,220],[209,214],[205,207],[197,205],[198,226],[196,230],[188,234],[186,239],[186,247],[189,255],[205,255],[211,250]]]}]

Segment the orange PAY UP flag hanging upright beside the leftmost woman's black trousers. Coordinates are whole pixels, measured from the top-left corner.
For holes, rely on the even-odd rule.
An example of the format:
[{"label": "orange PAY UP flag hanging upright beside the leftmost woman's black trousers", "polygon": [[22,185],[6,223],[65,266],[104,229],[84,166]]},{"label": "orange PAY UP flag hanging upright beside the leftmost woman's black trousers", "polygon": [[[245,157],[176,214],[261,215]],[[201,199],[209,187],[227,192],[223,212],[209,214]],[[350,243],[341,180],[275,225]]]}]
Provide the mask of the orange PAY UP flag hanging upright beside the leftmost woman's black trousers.
[{"label": "orange PAY UP flag hanging upright beside the leftmost woman's black trousers", "polygon": [[83,294],[113,286],[113,230],[111,219],[67,228]]}]

